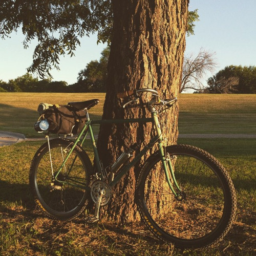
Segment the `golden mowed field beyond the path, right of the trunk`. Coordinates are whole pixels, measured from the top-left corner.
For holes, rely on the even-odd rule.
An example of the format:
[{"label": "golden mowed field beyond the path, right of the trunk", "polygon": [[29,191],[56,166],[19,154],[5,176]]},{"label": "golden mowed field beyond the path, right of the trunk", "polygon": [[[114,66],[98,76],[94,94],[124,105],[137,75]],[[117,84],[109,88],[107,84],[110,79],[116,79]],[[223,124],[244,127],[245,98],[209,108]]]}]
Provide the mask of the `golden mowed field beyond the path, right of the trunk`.
[{"label": "golden mowed field beyond the path, right of the trunk", "polygon": [[255,134],[255,94],[181,94],[180,134]]}]

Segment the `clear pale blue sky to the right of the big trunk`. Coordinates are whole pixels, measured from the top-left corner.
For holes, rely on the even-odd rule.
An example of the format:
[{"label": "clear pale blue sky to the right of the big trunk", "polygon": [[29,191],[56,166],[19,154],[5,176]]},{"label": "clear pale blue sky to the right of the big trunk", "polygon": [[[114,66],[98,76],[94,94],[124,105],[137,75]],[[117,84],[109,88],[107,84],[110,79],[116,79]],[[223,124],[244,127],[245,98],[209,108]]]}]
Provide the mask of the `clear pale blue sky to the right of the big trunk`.
[{"label": "clear pale blue sky to the right of the big trunk", "polygon": [[216,52],[218,70],[229,65],[256,66],[256,0],[190,0],[200,22],[187,37],[186,53],[201,47]]}]

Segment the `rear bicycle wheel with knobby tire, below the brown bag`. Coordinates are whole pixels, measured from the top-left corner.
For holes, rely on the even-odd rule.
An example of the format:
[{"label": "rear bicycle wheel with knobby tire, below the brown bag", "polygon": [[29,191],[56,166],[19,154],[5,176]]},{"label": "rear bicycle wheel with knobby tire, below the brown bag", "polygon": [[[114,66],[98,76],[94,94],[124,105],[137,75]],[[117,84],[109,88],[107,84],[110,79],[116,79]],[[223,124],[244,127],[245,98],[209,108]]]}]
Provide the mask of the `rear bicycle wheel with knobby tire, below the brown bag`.
[{"label": "rear bicycle wheel with knobby tire, below the brown bag", "polygon": [[67,139],[50,140],[36,152],[30,167],[30,188],[40,210],[52,219],[67,220],[78,216],[87,205],[90,196],[87,188],[92,164],[87,154]]}]

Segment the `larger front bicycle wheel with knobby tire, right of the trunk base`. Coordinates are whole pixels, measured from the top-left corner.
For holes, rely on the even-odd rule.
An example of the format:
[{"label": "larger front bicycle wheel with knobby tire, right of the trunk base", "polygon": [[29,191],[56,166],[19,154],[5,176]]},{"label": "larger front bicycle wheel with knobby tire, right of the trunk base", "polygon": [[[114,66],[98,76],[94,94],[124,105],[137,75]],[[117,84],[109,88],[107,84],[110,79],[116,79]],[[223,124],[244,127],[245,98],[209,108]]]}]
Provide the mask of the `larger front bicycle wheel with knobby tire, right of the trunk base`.
[{"label": "larger front bicycle wheel with knobby tire, right of the trunk base", "polygon": [[168,146],[166,153],[180,197],[170,190],[161,158],[156,155],[138,178],[137,205],[142,220],[158,238],[180,248],[219,241],[230,229],[236,212],[236,194],[226,170],[194,146]]}]

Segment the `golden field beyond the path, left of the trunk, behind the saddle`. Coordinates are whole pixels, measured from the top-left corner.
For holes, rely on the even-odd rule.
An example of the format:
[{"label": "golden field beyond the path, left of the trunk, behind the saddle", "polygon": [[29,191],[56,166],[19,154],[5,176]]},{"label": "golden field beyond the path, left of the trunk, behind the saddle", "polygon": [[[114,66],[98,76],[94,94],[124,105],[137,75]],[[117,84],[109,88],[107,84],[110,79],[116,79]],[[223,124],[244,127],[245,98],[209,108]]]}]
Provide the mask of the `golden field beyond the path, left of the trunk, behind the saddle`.
[{"label": "golden field beyond the path, left of the trunk, behind the saddle", "polygon": [[[90,111],[92,118],[100,119],[105,99],[104,93],[0,93],[0,131],[25,134],[27,138],[42,138],[34,130],[39,118],[38,104],[67,104],[70,101],[84,101],[97,98],[99,104]],[[95,125],[96,127],[96,125]],[[96,132],[98,127],[96,127]]]}]

